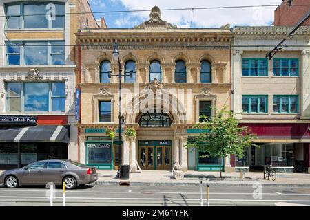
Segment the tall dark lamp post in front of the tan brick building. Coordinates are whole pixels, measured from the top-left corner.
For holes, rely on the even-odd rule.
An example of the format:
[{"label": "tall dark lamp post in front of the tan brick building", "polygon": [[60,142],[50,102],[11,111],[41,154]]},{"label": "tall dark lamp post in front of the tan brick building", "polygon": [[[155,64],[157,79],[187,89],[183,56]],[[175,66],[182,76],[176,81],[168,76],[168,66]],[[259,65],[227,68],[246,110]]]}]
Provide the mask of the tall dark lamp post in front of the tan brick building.
[{"label": "tall dark lamp post in front of the tan brick building", "polygon": [[132,77],[133,71],[130,71],[130,74],[122,74],[122,65],[121,65],[121,59],[119,58],[119,50],[118,50],[118,44],[117,41],[115,41],[113,45],[113,52],[112,52],[114,61],[118,61],[118,69],[119,72],[116,75],[112,75],[111,71],[108,72],[108,77],[111,78],[112,76],[118,76],[118,173],[116,174],[116,177],[120,177],[121,173],[121,164],[123,164],[122,159],[122,124],[123,124],[123,116],[122,116],[122,77],[123,76],[130,76]]}]

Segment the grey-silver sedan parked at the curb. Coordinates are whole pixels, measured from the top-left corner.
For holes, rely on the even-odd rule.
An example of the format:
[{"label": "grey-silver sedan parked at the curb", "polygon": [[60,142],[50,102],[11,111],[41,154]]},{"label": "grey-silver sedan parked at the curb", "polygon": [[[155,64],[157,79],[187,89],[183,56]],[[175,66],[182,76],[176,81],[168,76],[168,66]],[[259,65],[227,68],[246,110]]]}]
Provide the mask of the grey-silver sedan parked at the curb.
[{"label": "grey-silver sedan parked at the curb", "polygon": [[0,184],[8,188],[17,188],[25,185],[46,185],[54,183],[65,188],[73,189],[76,186],[91,184],[98,179],[96,168],[85,166],[70,160],[43,160],[34,162],[23,168],[7,170],[0,175]]}]

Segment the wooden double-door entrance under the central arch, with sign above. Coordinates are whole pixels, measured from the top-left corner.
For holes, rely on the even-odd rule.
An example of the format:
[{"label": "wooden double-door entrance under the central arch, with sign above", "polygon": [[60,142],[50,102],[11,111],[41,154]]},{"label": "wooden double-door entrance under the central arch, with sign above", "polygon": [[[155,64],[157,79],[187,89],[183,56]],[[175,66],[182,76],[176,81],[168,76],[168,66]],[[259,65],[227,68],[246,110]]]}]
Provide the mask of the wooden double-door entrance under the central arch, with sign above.
[{"label": "wooden double-door entrance under the central arch, with sign above", "polygon": [[139,165],[143,170],[170,170],[172,167],[171,141],[139,142]]}]

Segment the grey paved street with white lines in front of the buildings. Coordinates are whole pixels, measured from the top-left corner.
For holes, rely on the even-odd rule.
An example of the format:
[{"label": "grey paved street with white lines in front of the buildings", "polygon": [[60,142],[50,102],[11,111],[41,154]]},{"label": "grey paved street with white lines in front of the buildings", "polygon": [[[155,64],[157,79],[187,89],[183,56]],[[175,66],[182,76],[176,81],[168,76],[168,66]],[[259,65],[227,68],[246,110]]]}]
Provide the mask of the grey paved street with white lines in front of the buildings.
[{"label": "grey paved street with white lines in front of the buildings", "polygon": [[[254,199],[249,186],[213,186],[210,206],[310,206],[310,188],[262,187]],[[44,187],[8,189],[0,186],[0,206],[50,206]],[[207,204],[206,186],[203,203]],[[84,186],[66,191],[66,206],[200,206],[200,186]],[[61,188],[54,206],[62,206]]]}]

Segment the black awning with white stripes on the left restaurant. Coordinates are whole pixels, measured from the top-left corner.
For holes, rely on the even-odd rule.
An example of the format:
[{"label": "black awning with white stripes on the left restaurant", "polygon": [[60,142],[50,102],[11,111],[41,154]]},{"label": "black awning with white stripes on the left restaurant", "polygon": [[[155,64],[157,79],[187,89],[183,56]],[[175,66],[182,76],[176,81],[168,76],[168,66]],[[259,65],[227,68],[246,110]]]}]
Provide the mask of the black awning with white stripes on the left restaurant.
[{"label": "black awning with white stripes on the left restaurant", "polygon": [[0,142],[69,142],[65,126],[30,126],[0,131]]}]

